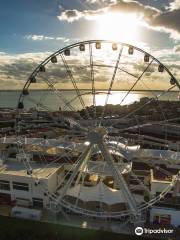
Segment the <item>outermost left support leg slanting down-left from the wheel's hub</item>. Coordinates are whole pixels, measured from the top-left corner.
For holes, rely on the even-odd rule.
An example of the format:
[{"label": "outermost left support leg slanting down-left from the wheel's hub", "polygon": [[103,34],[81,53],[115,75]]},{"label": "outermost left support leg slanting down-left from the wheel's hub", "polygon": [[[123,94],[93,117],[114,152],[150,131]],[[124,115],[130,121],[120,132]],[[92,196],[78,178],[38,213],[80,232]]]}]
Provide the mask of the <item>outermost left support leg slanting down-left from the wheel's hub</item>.
[{"label": "outermost left support leg slanting down-left from the wheel's hub", "polygon": [[[87,162],[91,153],[91,148],[92,145],[90,144],[89,146],[87,146],[87,148],[84,150],[84,152],[80,155],[79,159],[78,159],[78,163],[73,171],[73,173],[71,174],[71,177],[69,178],[69,180],[67,181],[67,183],[65,184],[61,195],[60,195],[60,200],[64,197],[64,195],[66,194],[67,190],[70,188],[72,182],[74,181],[74,178],[76,177],[76,175],[78,174],[82,164],[84,162]],[[59,199],[58,199],[59,200]]]}]

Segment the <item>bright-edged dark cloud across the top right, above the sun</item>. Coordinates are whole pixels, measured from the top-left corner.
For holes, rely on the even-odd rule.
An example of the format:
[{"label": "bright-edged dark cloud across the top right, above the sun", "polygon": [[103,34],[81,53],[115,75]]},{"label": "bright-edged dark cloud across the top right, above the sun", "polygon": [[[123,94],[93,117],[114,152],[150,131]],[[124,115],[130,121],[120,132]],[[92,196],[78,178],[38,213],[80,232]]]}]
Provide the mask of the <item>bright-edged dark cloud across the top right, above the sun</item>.
[{"label": "bright-edged dark cloud across the top right, above the sun", "polygon": [[[99,1],[93,1],[99,2]],[[116,13],[134,13],[141,21],[146,23],[146,26],[156,28],[159,31],[165,31],[171,34],[172,38],[179,38],[180,35],[180,0],[171,2],[170,6],[161,11],[155,7],[143,5],[137,1],[117,0],[108,4],[104,8],[97,10],[77,9],[64,10],[58,16],[60,21],[73,22],[82,18],[86,20],[96,20],[108,12]]]}]

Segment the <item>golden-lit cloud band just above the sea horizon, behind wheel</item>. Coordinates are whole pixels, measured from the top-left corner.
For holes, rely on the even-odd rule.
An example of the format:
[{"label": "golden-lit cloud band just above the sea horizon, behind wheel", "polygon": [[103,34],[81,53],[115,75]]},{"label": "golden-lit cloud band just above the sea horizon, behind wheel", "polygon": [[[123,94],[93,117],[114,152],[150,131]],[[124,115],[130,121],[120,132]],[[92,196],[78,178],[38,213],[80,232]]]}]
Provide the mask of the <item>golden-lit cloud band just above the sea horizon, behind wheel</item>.
[{"label": "golden-lit cloud band just above the sea horizon, behind wheel", "polygon": [[[93,55],[95,81],[97,84],[96,86],[99,89],[106,88],[106,85],[109,83],[109,80],[113,75],[114,68],[112,66],[115,65],[114,61],[116,60],[117,52],[109,54],[110,51],[111,50],[107,50],[107,52],[103,51],[100,55],[98,51],[97,56]],[[169,66],[172,69],[172,73],[174,73],[179,79],[179,52],[180,46],[177,45],[174,49],[156,49],[156,51],[152,52],[152,55],[160,59],[160,61],[165,63],[166,66]],[[25,81],[28,79],[32,71],[50,54],[50,52],[12,55],[6,54],[4,52],[0,53],[0,88],[22,89]],[[53,83],[56,83],[57,87],[59,88],[72,88],[71,81],[67,76],[67,71],[62,63],[61,57],[57,57],[58,63],[48,63],[46,65],[47,71],[45,73],[38,74],[38,84],[34,85],[35,88],[47,87],[45,84],[43,85],[43,75],[45,75],[46,78],[50,79]],[[139,76],[143,70],[144,63],[142,62],[143,58],[139,59],[138,57],[138,60],[140,60],[140,62],[138,62],[136,58],[136,55],[129,56],[125,54],[121,59],[121,68]],[[81,85],[82,88],[91,88],[88,49],[87,52],[85,51],[82,54],[82,52],[79,52],[79,48],[75,48],[71,51],[71,56],[67,57],[67,62],[74,78],[78,83],[78,86]],[[104,65],[104,67],[102,65]],[[107,65],[111,65],[111,67],[107,67]],[[155,73],[158,74],[157,66],[152,65],[146,76],[150,78],[150,81],[153,81]],[[161,78],[159,79],[160,81],[162,80]],[[129,83],[131,84],[132,77],[127,76],[127,74],[123,73],[122,71],[119,71],[116,76],[116,87],[119,86],[119,81],[121,81],[121,84],[123,84],[122,87],[126,88],[128,87]],[[158,81],[159,80],[156,80],[157,83]]]}]

